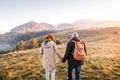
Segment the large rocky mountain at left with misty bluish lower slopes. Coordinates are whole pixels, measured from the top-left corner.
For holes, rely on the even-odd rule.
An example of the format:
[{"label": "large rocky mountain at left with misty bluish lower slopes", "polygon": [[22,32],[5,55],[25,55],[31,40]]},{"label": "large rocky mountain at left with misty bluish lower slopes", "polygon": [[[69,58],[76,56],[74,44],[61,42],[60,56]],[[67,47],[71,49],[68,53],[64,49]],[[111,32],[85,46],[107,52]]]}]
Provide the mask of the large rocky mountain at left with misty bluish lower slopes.
[{"label": "large rocky mountain at left with misty bluish lower slopes", "polygon": [[[30,21],[0,35],[0,51],[13,49],[20,40],[27,41],[33,37],[56,32],[51,24]],[[3,46],[4,45],[4,46]]]}]

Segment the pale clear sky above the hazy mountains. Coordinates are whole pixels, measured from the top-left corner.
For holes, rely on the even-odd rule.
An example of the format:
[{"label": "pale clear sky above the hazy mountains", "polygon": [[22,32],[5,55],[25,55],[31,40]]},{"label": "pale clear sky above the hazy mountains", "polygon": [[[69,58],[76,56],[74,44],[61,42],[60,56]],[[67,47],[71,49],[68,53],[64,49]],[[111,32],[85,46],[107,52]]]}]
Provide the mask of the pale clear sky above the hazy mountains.
[{"label": "pale clear sky above the hazy mountains", "polygon": [[0,0],[0,33],[29,21],[120,20],[120,0]]}]

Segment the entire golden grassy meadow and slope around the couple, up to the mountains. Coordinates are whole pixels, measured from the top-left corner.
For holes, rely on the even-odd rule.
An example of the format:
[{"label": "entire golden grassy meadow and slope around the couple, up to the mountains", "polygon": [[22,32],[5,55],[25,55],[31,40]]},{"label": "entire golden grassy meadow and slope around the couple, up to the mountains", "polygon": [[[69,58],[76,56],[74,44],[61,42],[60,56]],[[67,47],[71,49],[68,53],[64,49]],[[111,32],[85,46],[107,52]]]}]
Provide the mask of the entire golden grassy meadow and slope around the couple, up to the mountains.
[{"label": "entire golden grassy meadow and slope around the couple, up to the mountains", "polygon": [[[56,33],[55,36],[63,42],[57,45],[62,56],[71,32],[78,32],[86,42],[88,55],[81,67],[82,80],[120,80],[119,30],[120,28],[70,29]],[[56,59],[56,80],[67,80],[67,62],[62,63],[57,56]],[[0,80],[45,80],[41,62],[39,48],[0,55]],[[73,78],[74,73],[75,71]]]}]

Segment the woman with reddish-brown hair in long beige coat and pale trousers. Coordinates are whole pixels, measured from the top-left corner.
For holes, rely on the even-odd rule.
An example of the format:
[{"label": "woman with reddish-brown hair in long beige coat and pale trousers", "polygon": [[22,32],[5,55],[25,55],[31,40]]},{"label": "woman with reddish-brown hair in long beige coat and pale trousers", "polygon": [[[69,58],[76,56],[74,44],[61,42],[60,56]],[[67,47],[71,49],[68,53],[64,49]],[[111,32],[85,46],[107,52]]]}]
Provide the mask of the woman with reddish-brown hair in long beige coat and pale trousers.
[{"label": "woman with reddish-brown hair in long beige coat and pale trousers", "polygon": [[45,37],[44,42],[41,44],[40,53],[42,54],[42,66],[46,72],[46,80],[49,80],[49,75],[51,74],[51,80],[55,80],[55,68],[56,60],[55,54],[61,58],[58,53],[55,38],[53,34],[48,34]]}]

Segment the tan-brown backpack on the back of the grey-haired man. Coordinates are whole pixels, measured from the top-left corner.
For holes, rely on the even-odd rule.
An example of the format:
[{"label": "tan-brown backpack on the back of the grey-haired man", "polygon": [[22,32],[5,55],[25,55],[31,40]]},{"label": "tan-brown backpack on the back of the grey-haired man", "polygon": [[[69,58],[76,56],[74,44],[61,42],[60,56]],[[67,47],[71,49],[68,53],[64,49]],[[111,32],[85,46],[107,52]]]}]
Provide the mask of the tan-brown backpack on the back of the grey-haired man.
[{"label": "tan-brown backpack on the back of the grey-haired man", "polygon": [[72,40],[72,41],[75,43],[73,58],[75,60],[80,60],[81,62],[84,63],[84,61],[85,61],[84,43],[82,41],[74,41],[74,40]]}]

